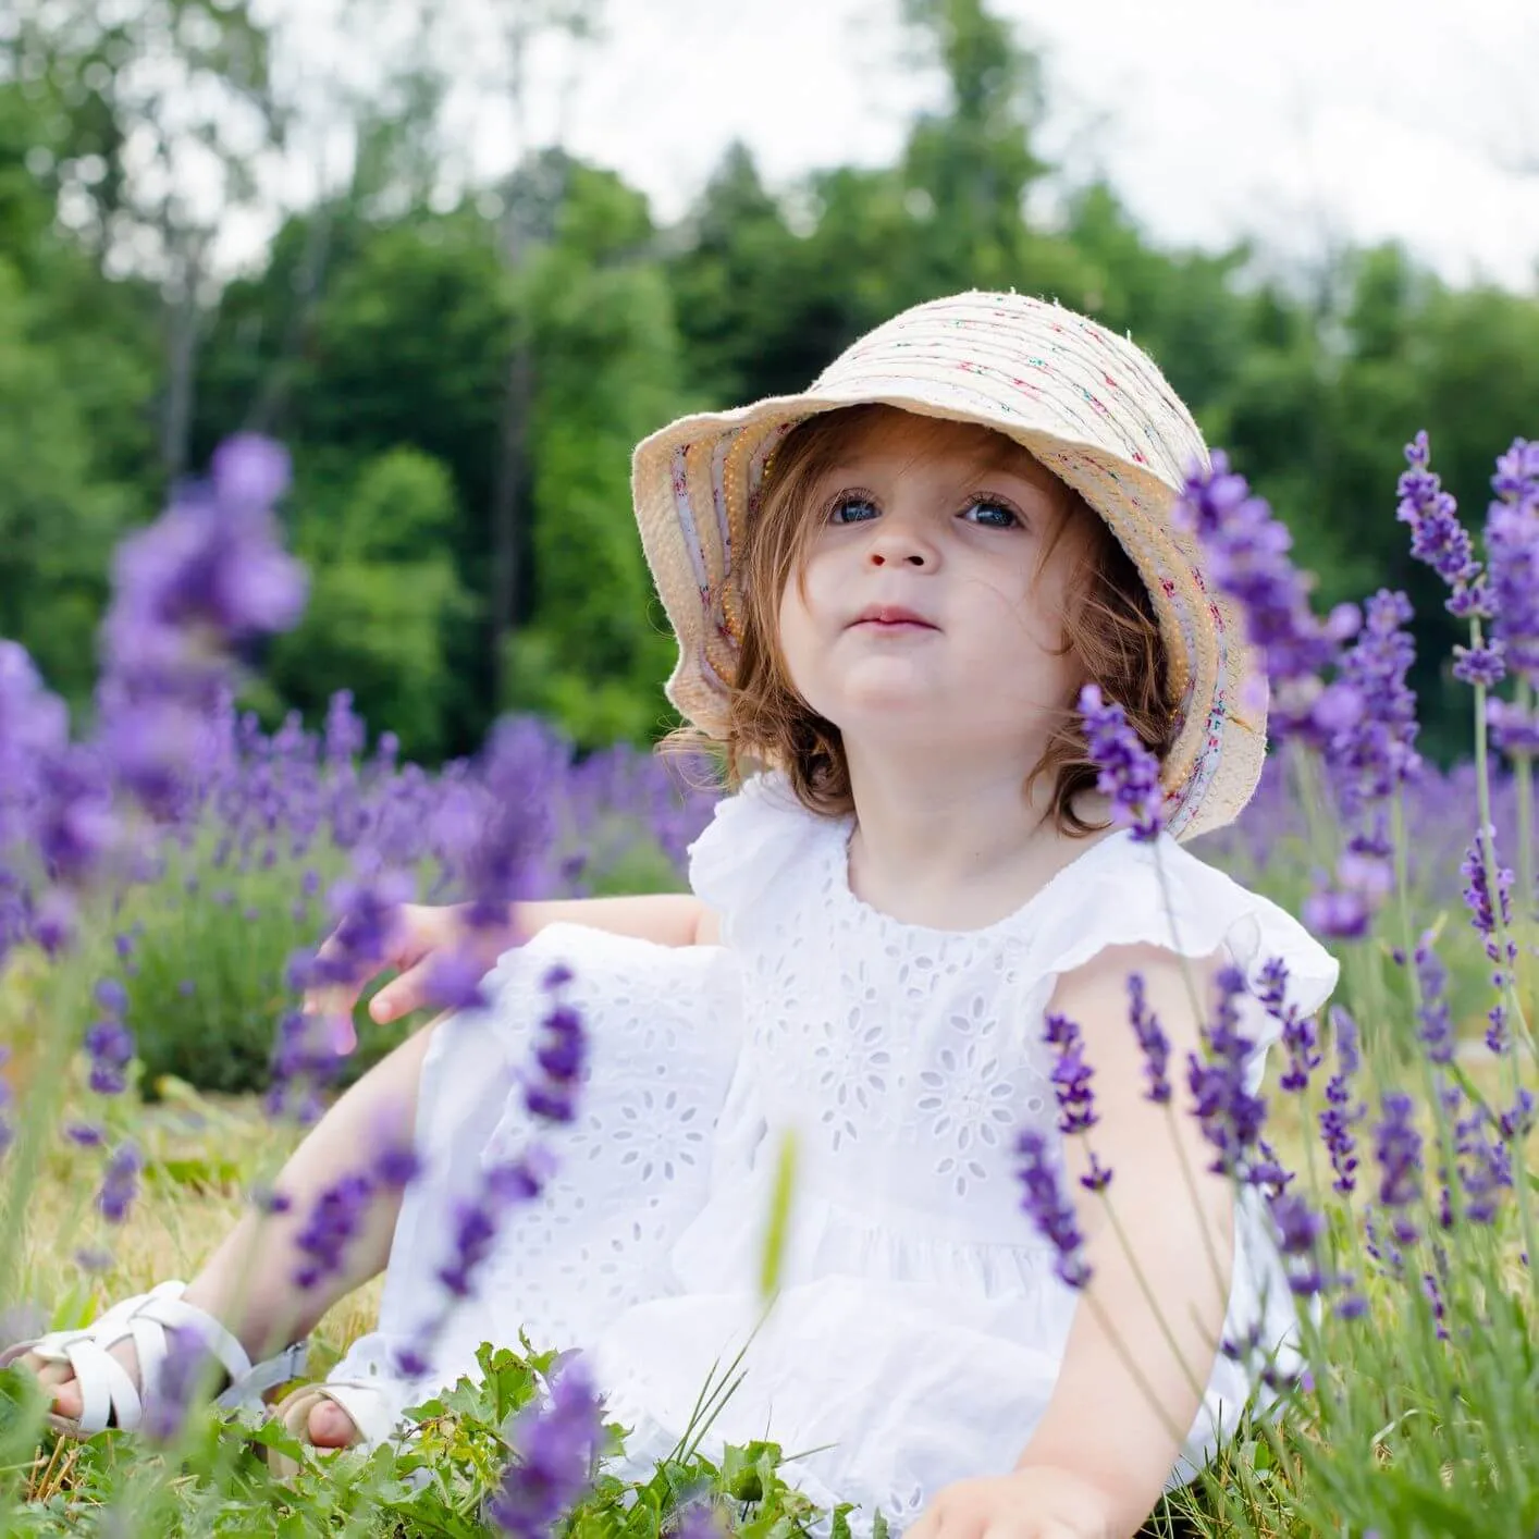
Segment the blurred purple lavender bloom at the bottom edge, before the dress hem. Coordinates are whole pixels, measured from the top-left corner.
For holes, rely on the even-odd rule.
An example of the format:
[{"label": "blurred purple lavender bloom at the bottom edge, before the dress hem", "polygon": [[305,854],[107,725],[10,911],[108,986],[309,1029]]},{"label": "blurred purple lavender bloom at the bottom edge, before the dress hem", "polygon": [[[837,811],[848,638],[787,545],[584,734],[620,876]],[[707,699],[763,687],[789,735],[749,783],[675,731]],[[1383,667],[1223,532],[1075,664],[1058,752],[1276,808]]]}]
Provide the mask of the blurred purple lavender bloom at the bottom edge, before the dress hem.
[{"label": "blurred purple lavender bloom at the bottom edge, before the dress hem", "polygon": [[603,1444],[603,1402],[580,1359],[551,1377],[543,1404],[514,1420],[512,1459],[486,1501],[486,1522],[514,1539],[549,1539],[593,1484]]}]

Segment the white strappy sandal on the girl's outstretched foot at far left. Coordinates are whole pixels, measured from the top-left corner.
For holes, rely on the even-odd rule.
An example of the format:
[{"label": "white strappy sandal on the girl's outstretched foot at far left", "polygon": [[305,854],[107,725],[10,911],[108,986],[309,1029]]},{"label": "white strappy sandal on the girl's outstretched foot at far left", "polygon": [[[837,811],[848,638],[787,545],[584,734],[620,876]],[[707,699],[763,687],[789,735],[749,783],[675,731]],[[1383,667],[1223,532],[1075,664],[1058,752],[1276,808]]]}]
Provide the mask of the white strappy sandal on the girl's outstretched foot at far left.
[{"label": "white strappy sandal on the girl's outstretched foot at far left", "polygon": [[[171,1353],[168,1331],[191,1331],[219,1359],[229,1377],[214,1405],[222,1411],[257,1405],[268,1390],[299,1379],[309,1356],[306,1342],[285,1347],[275,1357],[252,1364],[245,1347],[219,1320],[182,1294],[183,1282],[163,1282],[149,1293],[114,1304],[82,1331],[51,1331],[37,1340],[0,1351],[0,1368],[32,1353],[45,1362],[66,1362],[80,1385],[80,1416],[49,1413],[48,1425],[66,1437],[92,1437],[108,1427],[134,1431],[145,1416],[145,1393],[160,1382]],[[132,1340],[139,1354],[139,1384],[111,1354]]]}]

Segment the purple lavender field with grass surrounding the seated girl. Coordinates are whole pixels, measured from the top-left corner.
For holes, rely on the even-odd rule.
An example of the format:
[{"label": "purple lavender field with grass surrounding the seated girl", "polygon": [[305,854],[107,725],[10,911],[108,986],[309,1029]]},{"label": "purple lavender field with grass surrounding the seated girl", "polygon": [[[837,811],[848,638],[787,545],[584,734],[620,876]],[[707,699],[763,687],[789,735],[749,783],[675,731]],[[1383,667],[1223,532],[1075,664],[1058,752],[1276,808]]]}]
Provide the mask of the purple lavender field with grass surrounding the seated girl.
[{"label": "purple lavender field with grass surrounding the seated girl", "polygon": [[[1470,626],[1451,666],[1473,756],[1445,771],[1414,748],[1408,605],[1380,594],[1313,616],[1270,509],[1222,465],[1185,503],[1265,648],[1279,739],[1242,822],[1197,848],[1302,913],[1344,962],[1322,1020],[1282,1020],[1265,1100],[1225,1077],[1244,1043],[1225,1037],[1222,1002],[1208,1060],[1177,1076],[1222,1168],[1267,1193],[1311,1362],[1276,1385],[1285,1416],[1247,1427],[1159,1519],[1214,1539],[1539,1525],[1539,452],[1517,443],[1499,462],[1484,556],[1425,443],[1407,457],[1402,522]],[[306,988],[379,971],[399,905],[463,905],[462,953],[434,990],[469,1005],[511,900],[680,888],[709,817],[709,765],[579,754],[531,717],[434,771],[400,762],[388,723],[359,720],[346,696],[314,731],[265,731],[235,700],[251,646],[305,603],[272,514],[286,491],[275,445],[232,440],[119,551],[88,723],[71,729],[28,656],[0,643],[6,1339],[186,1274],[263,1200],[299,1128],[422,1019],[385,1030],[363,1002],[351,1019],[300,1010]],[[576,1090],[569,1060],[542,1063],[553,1097]],[[1040,1222],[1031,1197],[1022,1225]],[[320,1367],[374,1299],[328,1316]],[[251,1413],[211,1414],[195,1373],[162,1388],[152,1434],[78,1445],[46,1437],[35,1385],[0,1371],[5,1531],[779,1536],[819,1522],[773,1444],[722,1467],[686,1453],[626,1485],[591,1464],[596,1427],[576,1444],[551,1431],[573,1411],[542,1388],[548,1356],[500,1342],[485,1362],[414,1439],[309,1456],[289,1482],[259,1450],[297,1445]],[[568,1462],[549,1468],[557,1445]],[[531,1508],[534,1484],[560,1501]]]}]

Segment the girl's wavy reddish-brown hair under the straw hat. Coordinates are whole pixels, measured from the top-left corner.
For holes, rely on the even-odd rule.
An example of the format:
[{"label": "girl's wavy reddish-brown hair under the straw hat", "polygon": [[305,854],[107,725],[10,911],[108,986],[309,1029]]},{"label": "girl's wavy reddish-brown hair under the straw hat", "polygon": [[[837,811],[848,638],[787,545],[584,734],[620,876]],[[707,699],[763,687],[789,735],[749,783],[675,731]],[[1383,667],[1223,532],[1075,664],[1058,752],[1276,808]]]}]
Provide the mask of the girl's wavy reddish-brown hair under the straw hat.
[{"label": "girl's wavy reddish-brown hair under the straw hat", "polygon": [[[782,770],[797,799],[814,813],[842,816],[853,811],[850,768],[839,728],[819,716],[797,694],[776,640],[780,596],[800,574],[817,520],[806,516],[814,485],[846,459],[854,443],[893,406],[846,406],[808,417],[786,434],[765,474],[759,512],[746,531],[740,553],[742,649],[728,705],[725,743],[685,728],[669,736],[666,748],[725,751],[729,788],[760,766]],[[925,440],[954,432],[956,423],[913,417],[906,431],[916,454]],[[977,472],[1039,465],[1019,443],[979,428]],[[986,437],[985,437],[986,434]],[[1062,653],[1080,662],[1080,685],[1097,683],[1105,699],[1116,700],[1145,748],[1160,760],[1176,740],[1179,719],[1170,679],[1170,657],[1154,614],[1154,605],[1139,569],[1107,522],[1079,492],[1063,482],[1060,517],[1042,551],[1037,571],[1059,542],[1077,546],[1065,586]],[[737,554],[737,553],[734,553]],[[1074,696],[1077,697],[1076,688]],[[1045,777],[1053,780],[1048,816],[1071,837],[1105,828],[1087,822],[1076,810],[1082,793],[1094,790],[1099,771],[1090,757],[1079,713],[1065,700],[1062,720],[1025,780],[1030,793]]]}]

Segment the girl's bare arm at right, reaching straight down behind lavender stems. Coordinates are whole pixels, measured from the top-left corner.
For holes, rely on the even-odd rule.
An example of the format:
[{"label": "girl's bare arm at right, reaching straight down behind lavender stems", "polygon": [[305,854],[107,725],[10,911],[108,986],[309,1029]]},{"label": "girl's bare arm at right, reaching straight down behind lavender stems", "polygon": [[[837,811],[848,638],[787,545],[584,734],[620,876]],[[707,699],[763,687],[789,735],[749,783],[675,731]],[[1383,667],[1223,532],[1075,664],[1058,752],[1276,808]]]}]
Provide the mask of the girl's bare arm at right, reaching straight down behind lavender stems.
[{"label": "girl's bare arm at right, reaching straight down behind lavender stems", "polygon": [[[1063,1140],[1093,1276],[1019,1473],[1030,1482],[1062,1471],[1099,1493],[1110,1534],[1134,1533],[1159,1501],[1213,1371],[1233,1276],[1233,1187],[1207,1170],[1213,1148],[1182,1097],[1170,1108],[1145,1099],[1143,1054],[1128,1023],[1127,977],[1142,973],[1179,1082],[1187,1054],[1199,1051],[1193,993],[1207,1008],[1217,959],[1185,963],[1191,986],[1182,966],[1154,946],[1111,948],[1062,979],[1050,1007],[1079,1023],[1094,1071],[1099,1120]],[[1079,1183],[1091,1148],[1113,1171],[1100,1196]],[[1108,1222],[1108,1200],[1120,1237]]]}]

